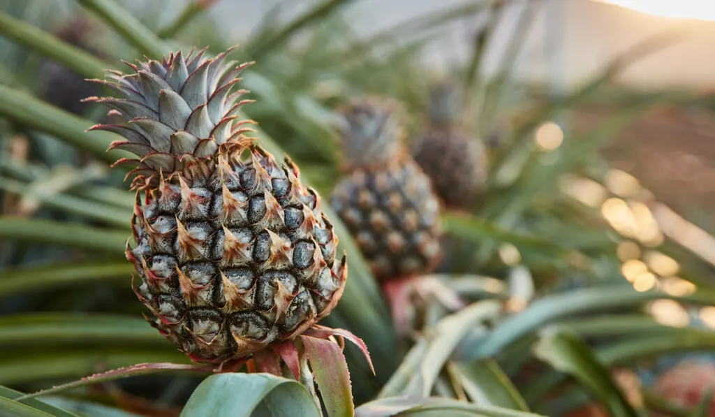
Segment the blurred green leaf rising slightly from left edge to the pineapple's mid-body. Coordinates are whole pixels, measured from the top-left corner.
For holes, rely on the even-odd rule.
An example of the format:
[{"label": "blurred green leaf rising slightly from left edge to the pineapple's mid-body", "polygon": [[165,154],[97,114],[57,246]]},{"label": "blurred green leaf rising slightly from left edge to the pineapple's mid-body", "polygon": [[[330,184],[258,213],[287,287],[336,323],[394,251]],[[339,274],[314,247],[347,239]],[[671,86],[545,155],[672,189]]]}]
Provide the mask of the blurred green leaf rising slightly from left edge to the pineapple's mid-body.
[{"label": "blurred green leaf rising slightly from left edge to the pineapple's mid-body", "polygon": [[134,273],[134,265],[127,260],[54,263],[9,269],[2,273],[0,296],[49,291],[87,283],[124,285],[129,288],[129,278],[132,273]]}]

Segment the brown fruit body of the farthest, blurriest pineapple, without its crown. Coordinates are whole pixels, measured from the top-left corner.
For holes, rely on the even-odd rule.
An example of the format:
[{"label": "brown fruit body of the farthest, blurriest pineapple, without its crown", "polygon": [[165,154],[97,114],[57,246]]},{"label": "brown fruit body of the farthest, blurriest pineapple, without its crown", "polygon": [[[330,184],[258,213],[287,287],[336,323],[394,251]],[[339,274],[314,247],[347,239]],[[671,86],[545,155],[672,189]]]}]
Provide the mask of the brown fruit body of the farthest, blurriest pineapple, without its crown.
[{"label": "brown fruit body of the farthest, blurriest pineapple, without its crown", "polygon": [[428,129],[412,145],[415,161],[448,207],[468,207],[487,179],[484,145],[455,129]]}]

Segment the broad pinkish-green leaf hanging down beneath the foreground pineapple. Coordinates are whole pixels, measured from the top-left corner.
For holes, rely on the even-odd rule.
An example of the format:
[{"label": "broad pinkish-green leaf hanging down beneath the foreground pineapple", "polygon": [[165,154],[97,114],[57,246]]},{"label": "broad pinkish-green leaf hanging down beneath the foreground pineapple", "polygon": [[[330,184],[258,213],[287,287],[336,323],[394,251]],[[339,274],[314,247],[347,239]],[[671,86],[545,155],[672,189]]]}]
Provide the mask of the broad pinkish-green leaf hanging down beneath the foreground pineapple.
[{"label": "broad pinkish-green leaf hanging down beneath the foreground pineapple", "polygon": [[330,340],[311,336],[301,336],[300,340],[305,346],[305,353],[325,403],[327,415],[352,417],[355,406],[352,404],[350,373],[347,371],[347,363],[340,346]]}]

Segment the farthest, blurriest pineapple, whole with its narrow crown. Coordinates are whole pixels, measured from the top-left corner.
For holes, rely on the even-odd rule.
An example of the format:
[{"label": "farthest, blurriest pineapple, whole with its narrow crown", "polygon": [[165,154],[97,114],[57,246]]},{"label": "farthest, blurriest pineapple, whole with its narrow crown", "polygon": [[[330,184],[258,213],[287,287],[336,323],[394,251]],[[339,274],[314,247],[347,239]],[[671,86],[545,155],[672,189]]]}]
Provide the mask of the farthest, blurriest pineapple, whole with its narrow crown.
[{"label": "farthest, blurriest pineapple, whole with its narrow crown", "polygon": [[439,83],[430,92],[428,125],[412,144],[415,161],[432,179],[447,207],[469,207],[486,180],[487,160],[483,143],[464,134],[458,89]]}]

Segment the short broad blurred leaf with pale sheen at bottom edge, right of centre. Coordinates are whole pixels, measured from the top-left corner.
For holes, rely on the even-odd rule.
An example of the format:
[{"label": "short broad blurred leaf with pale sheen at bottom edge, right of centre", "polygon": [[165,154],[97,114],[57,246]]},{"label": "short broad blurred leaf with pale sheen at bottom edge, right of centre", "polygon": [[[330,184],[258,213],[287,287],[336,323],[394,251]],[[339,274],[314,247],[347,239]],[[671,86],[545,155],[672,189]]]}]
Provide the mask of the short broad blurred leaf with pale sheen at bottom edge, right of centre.
[{"label": "short broad blurred leaf with pale sheen at bottom edge, right of centre", "polygon": [[516,387],[493,359],[453,363],[450,371],[459,378],[469,398],[478,404],[529,411]]}]

